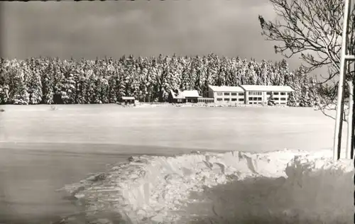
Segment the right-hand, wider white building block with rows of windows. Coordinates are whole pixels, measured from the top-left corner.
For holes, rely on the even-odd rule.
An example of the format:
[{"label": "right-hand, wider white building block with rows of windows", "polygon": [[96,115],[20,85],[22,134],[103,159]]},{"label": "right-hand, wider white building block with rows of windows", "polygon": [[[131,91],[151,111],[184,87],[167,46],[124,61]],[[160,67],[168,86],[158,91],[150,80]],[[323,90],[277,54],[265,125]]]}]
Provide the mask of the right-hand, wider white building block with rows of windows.
[{"label": "right-hand, wider white building block with rows of windows", "polygon": [[290,92],[294,91],[290,86],[260,86],[241,85],[245,93],[246,104],[267,104],[273,95],[276,105],[287,105]]}]

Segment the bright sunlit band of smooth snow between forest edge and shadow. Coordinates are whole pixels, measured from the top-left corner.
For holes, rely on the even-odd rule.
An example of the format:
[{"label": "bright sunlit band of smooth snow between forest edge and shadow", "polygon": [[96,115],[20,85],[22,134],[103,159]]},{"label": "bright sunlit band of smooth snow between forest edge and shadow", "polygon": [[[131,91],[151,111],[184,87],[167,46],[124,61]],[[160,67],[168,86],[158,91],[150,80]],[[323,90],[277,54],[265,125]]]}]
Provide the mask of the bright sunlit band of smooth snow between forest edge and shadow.
[{"label": "bright sunlit band of smooth snow between forest edge and shadow", "polygon": [[[51,111],[48,105],[4,106],[0,142],[265,152],[328,148],[334,129],[331,118],[312,108],[57,107]],[[87,150],[102,152],[97,148],[84,152]]]}]

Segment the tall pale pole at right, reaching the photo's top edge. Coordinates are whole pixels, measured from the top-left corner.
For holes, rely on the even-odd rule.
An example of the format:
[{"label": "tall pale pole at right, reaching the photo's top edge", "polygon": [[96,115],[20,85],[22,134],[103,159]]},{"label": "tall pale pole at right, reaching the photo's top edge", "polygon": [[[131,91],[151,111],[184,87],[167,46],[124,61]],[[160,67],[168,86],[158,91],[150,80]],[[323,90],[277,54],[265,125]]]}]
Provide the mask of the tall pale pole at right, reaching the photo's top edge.
[{"label": "tall pale pole at right, reaching the photo's top edge", "polygon": [[342,52],[340,60],[340,73],[338,84],[338,99],[337,99],[337,115],[335,118],[335,130],[334,130],[334,145],[333,145],[333,159],[340,159],[340,152],[342,150],[342,127],[343,127],[343,115],[344,115],[344,74],[345,74],[345,55],[346,55],[346,40],[349,23],[349,7],[350,1],[345,0],[344,5],[344,23],[342,33]]}]

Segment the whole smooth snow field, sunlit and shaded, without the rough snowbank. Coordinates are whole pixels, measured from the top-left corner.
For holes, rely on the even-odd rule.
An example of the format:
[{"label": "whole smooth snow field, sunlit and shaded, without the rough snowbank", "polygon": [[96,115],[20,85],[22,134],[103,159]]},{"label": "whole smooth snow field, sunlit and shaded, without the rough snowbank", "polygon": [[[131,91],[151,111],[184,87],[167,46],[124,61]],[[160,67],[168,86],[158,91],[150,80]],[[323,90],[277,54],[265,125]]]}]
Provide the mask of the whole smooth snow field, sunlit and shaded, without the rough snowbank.
[{"label": "whole smooth snow field, sunlit and shaded, without the rough snowbank", "polygon": [[55,189],[130,155],[311,152],[332,145],[334,126],[312,108],[1,108],[0,223],[40,223],[36,220],[79,211]]}]

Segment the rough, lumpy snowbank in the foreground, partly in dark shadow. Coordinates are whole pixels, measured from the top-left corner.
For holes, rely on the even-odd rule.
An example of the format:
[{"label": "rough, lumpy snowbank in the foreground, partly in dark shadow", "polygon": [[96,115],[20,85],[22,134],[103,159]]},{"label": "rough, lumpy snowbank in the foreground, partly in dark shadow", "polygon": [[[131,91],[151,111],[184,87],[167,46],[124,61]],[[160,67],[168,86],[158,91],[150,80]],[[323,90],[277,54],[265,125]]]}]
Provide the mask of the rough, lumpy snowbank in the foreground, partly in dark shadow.
[{"label": "rough, lumpy snowbank in the foreground, partly in dark shadow", "polygon": [[129,160],[65,186],[87,211],[87,217],[101,218],[100,222],[119,218],[129,223],[352,220],[354,166],[350,160],[333,162],[331,150],[139,156]]}]

